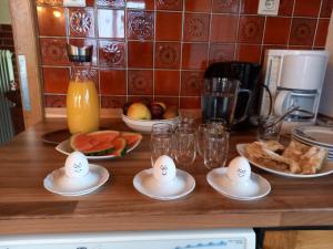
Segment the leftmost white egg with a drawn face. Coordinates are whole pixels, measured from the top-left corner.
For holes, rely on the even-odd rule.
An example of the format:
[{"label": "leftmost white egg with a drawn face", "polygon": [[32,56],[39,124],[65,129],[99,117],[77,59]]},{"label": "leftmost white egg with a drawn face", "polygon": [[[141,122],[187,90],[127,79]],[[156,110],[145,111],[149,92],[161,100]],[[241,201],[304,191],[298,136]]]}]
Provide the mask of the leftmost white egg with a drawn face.
[{"label": "leftmost white egg with a drawn face", "polygon": [[89,173],[89,163],[84,154],[80,152],[71,153],[65,159],[64,173],[70,178],[85,176]]}]

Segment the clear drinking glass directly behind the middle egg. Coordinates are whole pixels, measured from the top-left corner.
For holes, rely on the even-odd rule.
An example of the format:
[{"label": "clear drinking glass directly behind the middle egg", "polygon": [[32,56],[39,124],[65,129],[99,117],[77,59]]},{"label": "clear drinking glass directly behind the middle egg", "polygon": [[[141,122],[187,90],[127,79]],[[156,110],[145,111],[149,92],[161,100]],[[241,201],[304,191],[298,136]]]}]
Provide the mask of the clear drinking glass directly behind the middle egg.
[{"label": "clear drinking glass directly behind the middle egg", "polygon": [[172,157],[172,141],[173,131],[171,124],[157,123],[152,126],[150,141],[152,166],[162,155]]}]

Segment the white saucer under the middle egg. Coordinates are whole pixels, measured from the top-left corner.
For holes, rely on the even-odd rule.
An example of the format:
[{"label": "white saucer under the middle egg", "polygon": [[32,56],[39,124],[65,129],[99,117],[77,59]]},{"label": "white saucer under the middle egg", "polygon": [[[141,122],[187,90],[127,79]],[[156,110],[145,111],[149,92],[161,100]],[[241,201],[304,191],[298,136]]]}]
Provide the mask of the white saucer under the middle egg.
[{"label": "white saucer under the middle egg", "polygon": [[175,178],[162,185],[153,177],[153,168],[149,168],[134,176],[133,185],[138,191],[152,199],[172,200],[193,191],[195,180],[189,173],[176,169]]}]

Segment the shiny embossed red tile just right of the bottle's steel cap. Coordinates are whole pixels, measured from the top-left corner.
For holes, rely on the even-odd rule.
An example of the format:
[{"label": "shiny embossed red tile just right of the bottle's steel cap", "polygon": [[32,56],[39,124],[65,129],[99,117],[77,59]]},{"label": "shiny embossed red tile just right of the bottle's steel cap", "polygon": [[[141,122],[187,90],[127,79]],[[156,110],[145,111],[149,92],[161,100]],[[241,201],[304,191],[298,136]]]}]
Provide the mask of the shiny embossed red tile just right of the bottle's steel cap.
[{"label": "shiny embossed red tile just right of the bottle's steel cap", "polygon": [[99,42],[99,64],[101,66],[124,68],[125,66],[125,43],[118,41]]}]

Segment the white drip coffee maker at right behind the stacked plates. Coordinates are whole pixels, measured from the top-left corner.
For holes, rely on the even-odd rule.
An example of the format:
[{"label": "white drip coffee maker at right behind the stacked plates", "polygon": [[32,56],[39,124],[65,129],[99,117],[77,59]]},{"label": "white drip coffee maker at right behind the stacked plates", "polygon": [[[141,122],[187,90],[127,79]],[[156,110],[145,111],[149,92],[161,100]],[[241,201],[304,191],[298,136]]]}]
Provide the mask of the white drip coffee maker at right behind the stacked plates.
[{"label": "white drip coffee maker at right behind the stacked plates", "polygon": [[312,50],[268,50],[264,60],[264,84],[261,115],[269,114],[270,103],[273,114],[282,115],[291,106],[300,106],[305,112],[293,112],[285,117],[282,132],[290,133],[300,124],[314,124],[317,115],[329,52]]}]

